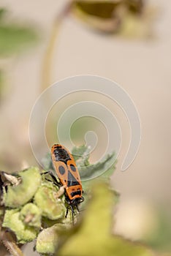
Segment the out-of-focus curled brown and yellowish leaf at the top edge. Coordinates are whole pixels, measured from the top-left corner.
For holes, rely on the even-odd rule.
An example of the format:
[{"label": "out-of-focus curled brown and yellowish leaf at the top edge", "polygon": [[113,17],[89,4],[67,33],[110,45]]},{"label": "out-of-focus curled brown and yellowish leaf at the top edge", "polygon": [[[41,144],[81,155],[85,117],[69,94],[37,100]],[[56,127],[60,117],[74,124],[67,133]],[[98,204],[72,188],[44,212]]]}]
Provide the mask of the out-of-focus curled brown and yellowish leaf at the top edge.
[{"label": "out-of-focus curled brown and yellowish leaf at the top edge", "polygon": [[72,13],[96,31],[132,38],[151,36],[156,16],[144,0],[73,0]]}]

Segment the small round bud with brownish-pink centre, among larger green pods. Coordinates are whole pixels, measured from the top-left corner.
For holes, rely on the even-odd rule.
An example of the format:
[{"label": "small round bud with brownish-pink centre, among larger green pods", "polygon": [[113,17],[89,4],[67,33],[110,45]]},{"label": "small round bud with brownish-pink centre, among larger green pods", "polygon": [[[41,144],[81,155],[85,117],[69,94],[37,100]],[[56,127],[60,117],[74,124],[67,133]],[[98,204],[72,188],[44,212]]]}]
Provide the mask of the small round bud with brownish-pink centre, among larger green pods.
[{"label": "small round bud with brownish-pink centre, among larger green pods", "polygon": [[20,211],[20,219],[28,226],[41,227],[41,213],[34,203],[27,203]]}]

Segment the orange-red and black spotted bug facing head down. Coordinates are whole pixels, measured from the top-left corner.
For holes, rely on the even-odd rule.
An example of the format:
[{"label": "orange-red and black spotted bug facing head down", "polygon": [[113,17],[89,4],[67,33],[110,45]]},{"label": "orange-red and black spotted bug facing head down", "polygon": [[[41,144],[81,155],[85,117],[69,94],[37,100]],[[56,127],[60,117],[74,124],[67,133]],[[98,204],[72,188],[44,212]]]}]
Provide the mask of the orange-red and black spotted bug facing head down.
[{"label": "orange-red and black spotted bug facing head down", "polygon": [[[74,208],[83,202],[83,187],[80,174],[77,170],[75,159],[68,149],[60,144],[55,144],[51,148],[51,158],[56,176],[59,179],[59,186],[65,188],[65,199],[72,211],[72,221],[75,214]],[[68,208],[66,209],[66,216]]]}]

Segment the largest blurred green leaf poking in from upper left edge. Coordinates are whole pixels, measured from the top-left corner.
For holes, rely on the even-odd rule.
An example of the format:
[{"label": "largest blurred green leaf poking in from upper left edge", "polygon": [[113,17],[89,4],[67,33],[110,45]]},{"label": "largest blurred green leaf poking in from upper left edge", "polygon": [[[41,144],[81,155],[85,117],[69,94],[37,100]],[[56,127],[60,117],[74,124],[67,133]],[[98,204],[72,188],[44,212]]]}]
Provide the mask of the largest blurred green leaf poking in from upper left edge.
[{"label": "largest blurred green leaf poking in from upper left edge", "polygon": [[37,31],[18,24],[0,23],[0,56],[20,53],[37,42]]}]

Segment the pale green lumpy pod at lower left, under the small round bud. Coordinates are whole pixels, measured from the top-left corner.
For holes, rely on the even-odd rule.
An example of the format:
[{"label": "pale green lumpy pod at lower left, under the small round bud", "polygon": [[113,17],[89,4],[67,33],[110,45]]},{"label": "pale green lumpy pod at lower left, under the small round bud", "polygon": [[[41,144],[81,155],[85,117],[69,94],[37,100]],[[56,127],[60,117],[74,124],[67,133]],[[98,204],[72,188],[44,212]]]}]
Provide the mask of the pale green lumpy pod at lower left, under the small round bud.
[{"label": "pale green lumpy pod at lower left, under the small round bud", "polygon": [[34,227],[29,227],[20,219],[19,209],[5,211],[2,227],[8,227],[12,230],[20,244],[26,244],[27,242],[33,241],[37,237],[39,231]]}]

